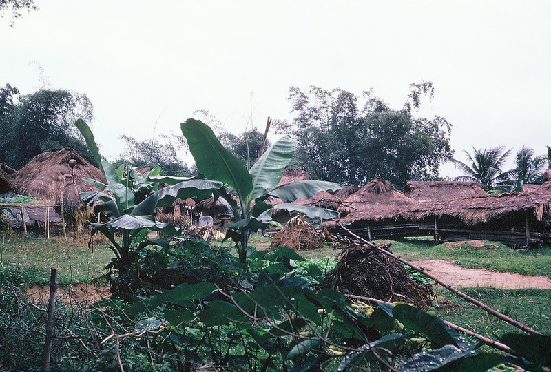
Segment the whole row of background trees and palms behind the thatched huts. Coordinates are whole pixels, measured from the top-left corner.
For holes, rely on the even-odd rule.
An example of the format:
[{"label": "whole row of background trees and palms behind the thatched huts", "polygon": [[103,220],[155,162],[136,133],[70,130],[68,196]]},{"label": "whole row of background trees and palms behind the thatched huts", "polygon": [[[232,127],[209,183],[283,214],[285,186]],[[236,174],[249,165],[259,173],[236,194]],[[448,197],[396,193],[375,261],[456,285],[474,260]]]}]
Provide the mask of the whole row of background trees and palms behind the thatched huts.
[{"label": "whole row of background trees and palms behind the thatched huts", "polygon": [[[453,158],[450,149],[452,125],[445,118],[419,117],[422,102],[432,99],[430,82],[410,85],[406,102],[392,109],[373,92],[364,92],[360,100],[351,92],[309,87],[289,89],[290,121],[274,120],[271,127],[279,134],[297,139],[290,167],[303,167],[313,178],[346,185],[364,185],[373,178],[386,178],[402,188],[408,180],[441,180],[439,165],[451,161],[464,175],[457,180],[471,180],[484,189],[521,189],[523,183],[543,180],[543,171],[551,161],[523,146],[516,154],[514,169],[503,170],[512,149],[503,147],[464,151],[467,161]],[[0,163],[23,167],[33,156],[61,147],[73,147],[87,161],[94,162],[74,121],[92,121],[94,107],[86,94],[62,89],[43,88],[20,94],[17,87],[0,87]],[[248,128],[240,135],[225,130],[224,125],[207,110],[194,116],[213,127],[220,143],[243,164],[251,165],[260,154],[264,133]],[[136,167],[159,165],[163,174],[190,176],[194,165],[181,161],[178,154],[187,152],[183,136],[161,134],[138,140],[121,136],[124,145],[115,164]],[[265,143],[269,147],[269,142]]]}]

